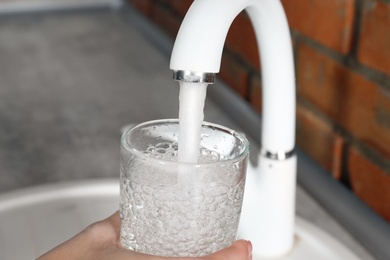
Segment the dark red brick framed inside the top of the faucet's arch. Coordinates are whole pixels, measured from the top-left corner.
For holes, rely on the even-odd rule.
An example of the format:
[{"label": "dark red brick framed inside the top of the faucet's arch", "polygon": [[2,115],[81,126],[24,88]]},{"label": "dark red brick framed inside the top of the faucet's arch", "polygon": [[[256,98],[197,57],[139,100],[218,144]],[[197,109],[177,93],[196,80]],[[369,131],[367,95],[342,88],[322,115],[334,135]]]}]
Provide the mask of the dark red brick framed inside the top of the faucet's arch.
[{"label": "dark red brick framed inside the top of the faucet's arch", "polygon": [[249,65],[259,70],[259,51],[252,23],[246,13],[240,13],[230,26],[225,42],[226,47],[240,56]]}]

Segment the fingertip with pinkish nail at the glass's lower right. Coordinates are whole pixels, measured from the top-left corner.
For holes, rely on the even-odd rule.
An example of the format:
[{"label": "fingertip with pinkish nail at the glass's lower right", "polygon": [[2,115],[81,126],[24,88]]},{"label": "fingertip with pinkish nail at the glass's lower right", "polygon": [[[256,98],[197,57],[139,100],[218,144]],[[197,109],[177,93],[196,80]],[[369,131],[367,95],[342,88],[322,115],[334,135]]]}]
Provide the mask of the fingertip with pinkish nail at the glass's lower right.
[{"label": "fingertip with pinkish nail at the glass's lower right", "polygon": [[204,260],[250,260],[252,259],[252,243],[237,240],[233,245],[204,258]]}]

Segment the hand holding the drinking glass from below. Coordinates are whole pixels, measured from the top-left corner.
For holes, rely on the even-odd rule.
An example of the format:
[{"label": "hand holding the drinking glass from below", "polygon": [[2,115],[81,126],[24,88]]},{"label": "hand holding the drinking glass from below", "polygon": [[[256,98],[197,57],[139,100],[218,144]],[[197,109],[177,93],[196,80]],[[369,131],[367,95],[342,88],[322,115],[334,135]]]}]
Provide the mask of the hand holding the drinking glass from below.
[{"label": "hand holding the drinking glass from below", "polygon": [[[119,212],[111,217],[96,222],[82,232],[57,246],[38,260],[59,259],[123,259],[123,260],[169,260],[169,257],[158,257],[141,254],[121,246],[119,241]],[[238,240],[233,245],[209,256],[200,258],[174,258],[176,260],[248,260],[252,259],[252,244]]]}]

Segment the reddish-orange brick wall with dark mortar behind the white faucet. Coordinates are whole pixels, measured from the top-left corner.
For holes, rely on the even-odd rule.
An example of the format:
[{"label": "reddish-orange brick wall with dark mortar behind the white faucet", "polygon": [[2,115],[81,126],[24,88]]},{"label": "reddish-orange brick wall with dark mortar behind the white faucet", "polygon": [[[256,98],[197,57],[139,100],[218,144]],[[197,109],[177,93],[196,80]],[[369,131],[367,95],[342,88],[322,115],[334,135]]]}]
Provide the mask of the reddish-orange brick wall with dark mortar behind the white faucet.
[{"label": "reddish-orange brick wall with dark mortar behind the white faucet", "polygon": [[[172,37],[192,0],[129,0]],[[297,78],[297,143],[390,222],[390,0],[282,0]],[[261,113],[258,50],[241,13],[219,77]]]}]

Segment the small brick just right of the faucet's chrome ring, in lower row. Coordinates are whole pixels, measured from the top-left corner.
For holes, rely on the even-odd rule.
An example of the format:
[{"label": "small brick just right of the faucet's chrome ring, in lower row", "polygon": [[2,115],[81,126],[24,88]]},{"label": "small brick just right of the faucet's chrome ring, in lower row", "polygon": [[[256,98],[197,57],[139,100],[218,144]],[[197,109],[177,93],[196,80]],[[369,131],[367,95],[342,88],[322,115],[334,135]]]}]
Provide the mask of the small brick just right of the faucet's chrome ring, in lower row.
[{"label": "small brick just right of the faucet's chrome ring, in lower row", "polygon": [[312,111],[297,105],[297,145],[324,169],[341,177],[344,139]]}]

